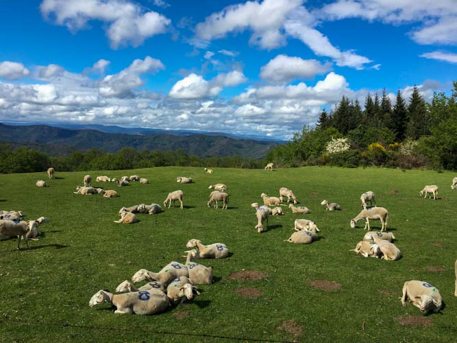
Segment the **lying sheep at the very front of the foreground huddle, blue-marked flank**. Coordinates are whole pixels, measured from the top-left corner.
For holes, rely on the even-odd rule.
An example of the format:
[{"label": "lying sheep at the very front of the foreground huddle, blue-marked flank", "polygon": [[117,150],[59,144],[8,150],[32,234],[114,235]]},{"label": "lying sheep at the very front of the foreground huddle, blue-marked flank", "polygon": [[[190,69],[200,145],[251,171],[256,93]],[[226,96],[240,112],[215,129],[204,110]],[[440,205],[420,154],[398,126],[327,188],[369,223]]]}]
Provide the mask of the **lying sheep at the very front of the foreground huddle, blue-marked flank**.
[{"label": "lying sheep at the very front of the foreground huddle, blue-marked flank", "polygon": [[140,291],[111,294],[100,290],[90,298],[89,306],[102,303],[112,304],[115,314],[158,314],[170,306],[170,300],[161,292]]}]

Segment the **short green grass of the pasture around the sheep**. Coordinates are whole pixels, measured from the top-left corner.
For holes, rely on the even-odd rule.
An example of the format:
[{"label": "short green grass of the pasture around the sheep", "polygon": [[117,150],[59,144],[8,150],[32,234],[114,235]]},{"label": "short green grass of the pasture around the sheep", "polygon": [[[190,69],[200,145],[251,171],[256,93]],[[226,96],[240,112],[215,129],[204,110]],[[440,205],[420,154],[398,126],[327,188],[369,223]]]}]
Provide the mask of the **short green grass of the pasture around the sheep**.
[{"label": "short green grass of the pasture around the sheep", "polygon": [[[116,189],[119,198],[73,194],[85,174],[138,174],[151,184],[129,187],[92,182]],[[78,342],[219,342],[227,338],[282,341],[452,342],[457,338],[457,298],[454,297],[457,191],[450,189],[450,172],[395,169],[304,167],[275,169],[215,169],[163,167],[134,171],[60,173],[49,188],[38,188],[46,174],[1,176],[0,207],[21,210],[26,220],[42,215],[50,222],[40,227],[32,250],[16,251],[15,241],[0,242],[0,337],[5,341]],[[193,185],[178,185],[188,176]],[[230,193],[229,209],[208,209],[208,185],[223,182]],[[424,185],[439,185],[440,200],[419,198]],[[280,187],[293,189],[310,215],[289,209],[271,217],[271,229],[258,234],[252,202],[260,193],[278,196]],[[185,209],[166,209],[159,215],[138,215],[141,222],[116,224],[121,206],[145,202],[162,204],[169,191],[184,191]],[[399,261],[365,259],[349,252],[364,235],[362,222],[351,229],[349,220],[360,211],[360,194],[372,190],[378,206],[389,211],[388,230],[402,250]],[[325,211],[320,202],[338,202],[343,211]],[[321,230],[310,245],[284,242],[299,217],[313,220]],[[371,225],[379,229],[380,223]],[[157,316],[114,315],[109,305],[88,307],[92,294],[114,288],[140,268],[159,270],[169,261],[184,261],[186,241],[223,242],[233,253],[212,265],[216,282],[199,286],[202,294]],[[429,267],[441,271],[430,271]],[[237,281],[229,275],[260,270],[259,281]],[[442,314],[432,314],[429,327],[399,324],[397,318],[422,316],[419,309],[399,301],[404,281],[419,279],[439,288],[445,303]],[[310,285],[334,281],[341,289],[325,292]],[[258,298],[243,298],[236,290],[256,287]],[[180,316],[185,318],[180,318]],[[4,318],[4,319],[3,319]],[[294,320],[298,335],[278,329]],[[39,324],[38,324],[39,323]],[[58,324],[58,325],[57,325]],[[95,329],[98,328],[98,329]],[[104,328],[104,329],[101,329]],[[157,331],[188,333],[160,334]],[[197,336],[197,335],[218,336]]]}]

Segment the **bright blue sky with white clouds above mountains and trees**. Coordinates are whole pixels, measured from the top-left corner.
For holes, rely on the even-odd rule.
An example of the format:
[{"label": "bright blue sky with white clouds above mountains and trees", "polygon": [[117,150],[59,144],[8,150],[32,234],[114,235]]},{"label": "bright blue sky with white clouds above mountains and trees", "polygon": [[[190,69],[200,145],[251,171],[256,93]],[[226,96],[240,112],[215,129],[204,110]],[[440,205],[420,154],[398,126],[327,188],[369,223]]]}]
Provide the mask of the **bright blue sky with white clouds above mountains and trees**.
[{"label": "bright blue sky with white clouds above mountains and trees", "polygon": [[16,0],[0,121],[286,139],[343,95],[457,81],[454,0]]}]

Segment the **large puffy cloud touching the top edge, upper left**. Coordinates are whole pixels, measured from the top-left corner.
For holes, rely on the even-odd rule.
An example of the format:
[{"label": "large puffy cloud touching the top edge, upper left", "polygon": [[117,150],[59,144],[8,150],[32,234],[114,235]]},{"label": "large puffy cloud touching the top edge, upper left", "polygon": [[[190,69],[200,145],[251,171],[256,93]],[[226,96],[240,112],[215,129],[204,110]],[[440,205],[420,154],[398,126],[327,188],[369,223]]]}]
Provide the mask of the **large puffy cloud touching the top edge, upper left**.
[{"label": "large puffy cloud touching the top edge, upper left", "polygon": [[[163,1],[162,1],[163,2]],[[108,23],[106,34],[112,48],[137,47],[145,39],[166,32],[171,20],[128,0],[44,0],[40,10],[46,19],[53,18],[72,32],[86,27],[88,21]]]}]

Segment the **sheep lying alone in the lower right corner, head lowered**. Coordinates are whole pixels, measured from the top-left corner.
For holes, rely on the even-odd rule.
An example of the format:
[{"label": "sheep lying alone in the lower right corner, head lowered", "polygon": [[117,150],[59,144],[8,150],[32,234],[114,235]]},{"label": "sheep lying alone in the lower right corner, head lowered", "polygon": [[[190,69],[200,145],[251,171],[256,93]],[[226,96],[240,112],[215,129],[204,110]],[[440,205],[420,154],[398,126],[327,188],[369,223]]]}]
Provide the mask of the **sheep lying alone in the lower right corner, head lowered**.
[{"label": "sheep lying alone in the lower right corner, head lowered", "polygon": [[436,287],[428,282],[411,280],[406,281],[403,285],[402,306],[406,307],[406,299],[415,307],[419,307],[421,312],[434,311],[439,312],[443,299]]}]

